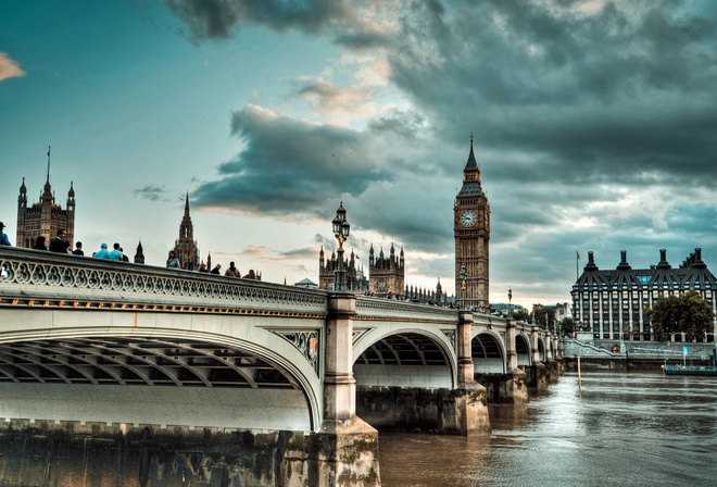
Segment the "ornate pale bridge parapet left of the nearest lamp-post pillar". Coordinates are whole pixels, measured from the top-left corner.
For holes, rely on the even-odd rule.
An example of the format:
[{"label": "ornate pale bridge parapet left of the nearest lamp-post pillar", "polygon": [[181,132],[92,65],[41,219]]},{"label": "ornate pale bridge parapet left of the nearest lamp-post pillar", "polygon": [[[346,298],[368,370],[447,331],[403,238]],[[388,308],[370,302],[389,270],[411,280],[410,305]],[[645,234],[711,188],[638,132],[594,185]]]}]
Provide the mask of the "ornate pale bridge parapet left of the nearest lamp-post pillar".
[{"label": "ornate pale bridge parapet left of the nearest lamp-post pillar", "polygon": [[0,247],[0,305],[158,305],[325,315],[328,294],[209,273]]}]

